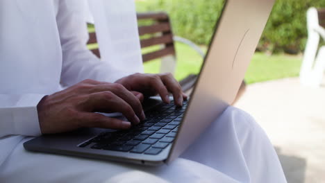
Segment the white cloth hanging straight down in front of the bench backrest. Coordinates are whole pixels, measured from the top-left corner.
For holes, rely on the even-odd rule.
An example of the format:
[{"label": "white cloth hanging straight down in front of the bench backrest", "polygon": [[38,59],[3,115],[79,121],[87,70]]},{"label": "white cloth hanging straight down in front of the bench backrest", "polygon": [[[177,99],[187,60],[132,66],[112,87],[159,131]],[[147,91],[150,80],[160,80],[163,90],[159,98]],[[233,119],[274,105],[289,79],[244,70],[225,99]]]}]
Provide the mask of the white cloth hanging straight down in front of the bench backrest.
[{"label": "white cloth hanging straight down in front of the bench backrest", "polygon": [[134,0],[88,0],[88,3],[101,60],[115,69],[143,72]]}]

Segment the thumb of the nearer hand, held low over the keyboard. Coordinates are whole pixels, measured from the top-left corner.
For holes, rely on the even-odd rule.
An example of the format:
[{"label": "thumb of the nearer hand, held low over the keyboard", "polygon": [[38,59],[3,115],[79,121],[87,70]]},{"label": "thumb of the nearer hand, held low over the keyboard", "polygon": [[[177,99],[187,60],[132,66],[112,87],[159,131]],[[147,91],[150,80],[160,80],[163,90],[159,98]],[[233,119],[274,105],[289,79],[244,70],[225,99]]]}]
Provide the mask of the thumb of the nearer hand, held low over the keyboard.
[{"label": "thumb of the nearer hand, held low over the keyboard", "polygon": [[131,123],[128,121],[110,118],[98,113],[84,112],[81,114],[81,119],[83,120],[83,127],[88,128],[111,128],[121,130],[131,128]]}]

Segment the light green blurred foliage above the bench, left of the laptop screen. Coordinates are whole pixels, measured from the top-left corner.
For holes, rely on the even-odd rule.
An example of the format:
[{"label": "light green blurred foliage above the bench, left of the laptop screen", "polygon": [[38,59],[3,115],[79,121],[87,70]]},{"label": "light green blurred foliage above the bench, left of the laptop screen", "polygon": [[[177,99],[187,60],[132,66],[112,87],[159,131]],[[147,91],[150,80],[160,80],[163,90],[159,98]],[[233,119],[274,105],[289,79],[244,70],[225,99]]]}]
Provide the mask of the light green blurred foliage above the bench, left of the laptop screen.
[{"label": "light green blurred foliage above the bench, left of the laptop screen", "polygon": [[223,0],[142,0],[136,5],[138,12],[168,12],[175,35],[197,44],[208,44]]}]

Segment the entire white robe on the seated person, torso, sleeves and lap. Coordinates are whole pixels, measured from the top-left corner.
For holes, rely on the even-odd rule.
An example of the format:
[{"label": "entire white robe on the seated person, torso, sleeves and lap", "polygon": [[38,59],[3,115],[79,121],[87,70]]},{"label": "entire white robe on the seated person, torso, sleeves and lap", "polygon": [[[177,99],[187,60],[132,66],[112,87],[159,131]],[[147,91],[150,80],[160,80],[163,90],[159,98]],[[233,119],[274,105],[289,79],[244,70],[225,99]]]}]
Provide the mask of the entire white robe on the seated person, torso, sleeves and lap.
[{"label": "entire white robe on the seated person, torso, sleeves and lap", "polygon": [[[36,105],[44,95],[128,74],[88,51],[84,17],[79,0],[0,1],[0,182],[285,182],[265,132],[234,107],[180,158],[156,168],[24,150],[26,136],[40,135]],[[156,177],[128,174],[135,170]]]}]

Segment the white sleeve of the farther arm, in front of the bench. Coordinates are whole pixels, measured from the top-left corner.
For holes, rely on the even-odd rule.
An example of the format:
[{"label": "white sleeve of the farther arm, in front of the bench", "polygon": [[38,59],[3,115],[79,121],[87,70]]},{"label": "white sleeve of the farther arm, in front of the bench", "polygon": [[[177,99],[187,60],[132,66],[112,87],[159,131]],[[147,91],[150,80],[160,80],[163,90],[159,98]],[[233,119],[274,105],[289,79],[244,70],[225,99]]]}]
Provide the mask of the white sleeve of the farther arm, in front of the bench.
[{"label": "white sleeve of the farther arm, in front of the bench", "polygon": [[65,86],[85,79],[115,82],[128,75],[102,62],[88,50],[85,8],[85,3],[80,0],[59,1],[56,21],[63,52],[61,83]]}]

